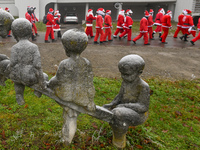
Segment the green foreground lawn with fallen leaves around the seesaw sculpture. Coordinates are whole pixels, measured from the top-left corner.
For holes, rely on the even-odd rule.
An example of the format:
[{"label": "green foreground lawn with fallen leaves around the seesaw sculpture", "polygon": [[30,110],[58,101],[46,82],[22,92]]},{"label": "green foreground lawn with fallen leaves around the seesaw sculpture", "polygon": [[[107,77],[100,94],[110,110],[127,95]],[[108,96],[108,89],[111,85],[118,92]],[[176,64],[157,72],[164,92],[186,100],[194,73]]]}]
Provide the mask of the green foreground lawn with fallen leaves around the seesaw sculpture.
[{"label": "green foreground lawn with fallen leaves around the seesaw sculpture", "polygon": [[[171,81],[146,79],[151,88],[148,120],[130,127],[127,146],[130,149],[200,149],[200,79]],[[94,78],[95,104],[109,103],[119,92],[121,80]],[[73,142],[61,141],[62,109],[52,99],[37,98],[25,89],[26,104],[17,105],[14,85],[0,86],[0,149],[116,149],[108,123],[86,114],[78,117]]]}]

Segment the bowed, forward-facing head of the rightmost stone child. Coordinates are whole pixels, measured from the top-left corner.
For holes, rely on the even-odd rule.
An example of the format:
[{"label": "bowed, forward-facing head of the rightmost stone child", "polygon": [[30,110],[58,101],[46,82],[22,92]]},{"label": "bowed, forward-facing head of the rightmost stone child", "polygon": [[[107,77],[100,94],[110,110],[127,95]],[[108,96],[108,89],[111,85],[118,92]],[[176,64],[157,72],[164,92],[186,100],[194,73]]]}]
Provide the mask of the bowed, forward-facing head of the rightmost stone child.
[{"label": "bowed, forward-facing head of the rightmost stone child", "polygon": [[118,64],[122,79],[125,82],[133,82],[142,74],[145,62],[139,55],[127,55]]}]

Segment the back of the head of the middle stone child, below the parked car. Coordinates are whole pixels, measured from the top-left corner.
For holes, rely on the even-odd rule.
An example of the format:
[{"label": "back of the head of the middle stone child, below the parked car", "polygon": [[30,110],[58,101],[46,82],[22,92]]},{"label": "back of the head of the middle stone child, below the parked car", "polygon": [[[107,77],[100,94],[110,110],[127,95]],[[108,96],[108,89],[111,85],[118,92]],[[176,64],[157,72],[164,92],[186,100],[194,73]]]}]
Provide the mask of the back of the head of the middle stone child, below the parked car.
[{"label": "back of the head of the middle stone child, below the parked car", "polygon": [[85,32],[79,31],[78,29],[67,30],[62,35],[61,40],[68,57],[70,57],[71,54],[81,54],[88,44],[87,35]]}]

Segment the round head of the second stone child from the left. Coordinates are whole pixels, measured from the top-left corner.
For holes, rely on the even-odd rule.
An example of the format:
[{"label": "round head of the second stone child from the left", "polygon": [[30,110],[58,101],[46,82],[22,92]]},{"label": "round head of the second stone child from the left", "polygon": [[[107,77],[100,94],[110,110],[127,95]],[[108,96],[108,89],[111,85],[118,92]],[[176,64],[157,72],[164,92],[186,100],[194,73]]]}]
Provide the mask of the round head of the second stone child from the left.
[{"label": "round head of the second stone child from the left", "polygon": [[20,39],[29,39],[32,34],[32,25],[25,18],[18,18],[12,23],[12,33],[15,39],[18,41]]}]

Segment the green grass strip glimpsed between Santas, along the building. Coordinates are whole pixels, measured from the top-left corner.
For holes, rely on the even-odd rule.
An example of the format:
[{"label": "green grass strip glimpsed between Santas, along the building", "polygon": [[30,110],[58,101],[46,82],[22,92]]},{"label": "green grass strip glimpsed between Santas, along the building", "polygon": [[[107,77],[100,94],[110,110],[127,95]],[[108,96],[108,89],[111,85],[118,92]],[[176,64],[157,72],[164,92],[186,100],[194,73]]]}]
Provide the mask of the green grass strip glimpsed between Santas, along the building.
[{"label": "green grass strip glimpsed between Santas, along the building", "polygon": [[[112,33],[114,33],[117,28],[117,22],[113,22],[112,25],[113,25]],[[177,25],[176,22],[172,22],[172,29],[169,30],[169,34],[174,34],[174,32],[176,31],[176,25]],[[43,24],[42,22],[36,22],[36,26],[37,26],[38,31],[42,31],[42,32],[46,31],[46,25]],[[95,26],[96,26],[96,22],[94,21],[94,23],[93,23],[93,31],[94,32],[95,32]],[[86,27],[85,24],[83,24],[83,27]],[[134,23],[132,25],[132,32],[139,33],[139,29],[140,29],[140,22],[134,21]],[[153,26],[153,30],[155,30],[155,29],[156,29],[156,26]]]}]

